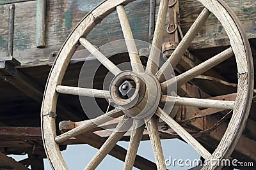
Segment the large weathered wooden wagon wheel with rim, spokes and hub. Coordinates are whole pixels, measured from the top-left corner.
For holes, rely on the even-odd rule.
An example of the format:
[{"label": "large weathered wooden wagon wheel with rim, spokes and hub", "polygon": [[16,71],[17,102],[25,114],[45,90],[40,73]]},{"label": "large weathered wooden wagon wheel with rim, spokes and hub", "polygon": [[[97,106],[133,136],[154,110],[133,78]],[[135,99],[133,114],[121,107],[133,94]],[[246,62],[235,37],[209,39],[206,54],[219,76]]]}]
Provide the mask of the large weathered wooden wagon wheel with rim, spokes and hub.
[{"label": "large weathered wooden wagon wheel with rim, spokes and hub", "polygon": [[[244,32],[239,25],[237,18],[234,16],[230,8],[227,7],[225,3],[221,0],[198,0],[200,3],[204,5],[204,10],[200,13],[194,24],[191,26],[189,31],[186,33],[182,41],[180,41],[177,48],[174,50],[170,58],[161,66],[161,69],[158,70],[158,61],[159,61],[159,53],[152,48],[150,51],[150,55],[147,62],[147,67],[144,70],[141,65],[141,60],[138,55],[134,53],[129,53],[129,57],[131,60],[132,71],[122,72],[118,67],[115,66],[110,60],[108,60],[102,53],[97,51],[97,49],[85,39],[86,35],[95,27],[97,24],[97,20],[102,20],[109,13],[117,10],[118,17],[120,18],[120,23],[122,26],[122,31],[124,33],[125,39],[133,39],[131,29],[129,27],[129,22],[127,20],[127,16],[125,14],[124,6],[131,2],[131,0],[108,0],[104,1],[97,8],[92,10],[86,17],[81,20],[81,22],[77,25],[74,31],[70,34],[67,41],[65,41],[62,46],[60,52],[58,53],[58,58],[56,59],[54,66],[52,67],[51,74],[49,75],[49,79],[47,81],[44,99],[42,103],[42,135],[44,138],[44,146],[45,151],[47,153],[47,157],[51,162],[51,166],[53,169],[68,169],[60,152],[60,148],[58,146],[59,143],[77,136],[86,131],[90,131],[96,125],[94,124],[103,124],[108,121],[107,116],[111,117],[120,117],[125,113],[124,118],[120,121],[120,123],[116,126],[116,130],[122,129],[128,120],[134,115],[138,115],[140,111],[134,110],[138,104],[142,104],[142,106],[146,106],[149,104],[154,110],[155,115],[160,117],[168,124],[179,136],[184,139],[191,147],[193,147],[196,152],[198,152],[204,159],[216,159],[220,160],[223,158],[230,157],[230,154],[234,150],[236,143],[241,136],[241,132],[243,131],[244,124],[248,117],[248,113],[250,110],[250,104],[252,101],[252,89],[253,89],[253,66],[252,66],[252,54],[250,51],[250,46],[248,45],[248,40],[244,36]],[[159,13],[157,17],[156,31],[154,33],[154,39],[152,44],[157,48],[161,48],[161,41],[163,39],[163,30],[166,19],[166,11],[168,7],[168,0],[162,0],[159,6]],[[183,74],[180,74],[176,77],[177,87],[186,83],[187,81],[193,79],[195,76],[204,73],[208,69],[220,64],[223,60],[236,56],[237,70],[238,70],[238,87],[237,87],[237,97],[236,101],[214,101],[210,99],[188,99],[185,97],[173,97],[173,96],[164,96],[162,92],[166,90],[166,88],[172,85],[174,78],[170,80],[164,80],[162,71],[166,71],[168,69],[168,64],[172,64],[172,67],[175,67],[182,57],[185,50],[188,48],[191,41],[195,38],[196,33],[200,30],[200,27],[204,24],[205,20],[209,17],[209,15],[213,13],[218,20],[221,22],[223,27],[225,28],[228,37],[230,38],[231,47],[227,50],[219,53],[218,55],[212,57],[211,59],[199,64],[193,69],[186,71]],[[146,90],[141,88],[138,89],[138,92],[143,94],[141,101],[138,103],[132,103],[132,108],[121,108],[122,111],[114,109],[106,113],[106,115],[102,115],[100,117],[95,118],[92,122],[86,122],[71,131],[65,132],[65,134],[61,134],[60,136],[56,136],[56,104],[59,93],[70,93],[70,90],[78,94],[77,88],[72,87],[64,87],[61,86],[61,81],[67,69],[68,63],[77,49],[77,45],[83,45],[90,52],[93,52],[93,55],[106,67],[111,71],[111,73],[115,74],[115,80],[113,80],[116,84],[113,87],[110,87],[109,91],[106,90],[95,90],[95,89],[81,89],[83,90],[83,95],[88,97],[102,97],[108,98],[111,97],[116,106],[123,106],[122,101],[124,99],[120,99],[120,96],[116,94],[116,86],[120,85],[120,77],[128,77],[129,79],[133,79],[136,83],[141,83],[140,87],[145,86]],[[132,51],[135,50],[136,46],[134,43],[127,43],[127,48]],[[122,75],[122,76],[120,76]],[[155,76],[153,76],[155,75]],[[145,81],[141,81],[144,79]],[[123,80],[122,80],[123,81]],[[150,82],[150,84],[148,84]],[[151,88],[152,93],[147,93],[147,89]],[[72,92],[72,93],[73,93]],[[146,95],[145,95],[146,94]],[[145,97],[149,96],[153,97],[154,100],[148,100]],[[223,138],[220,141],[220,144],[214,151],[214,153],[210,153],[208,150],[204,148],[204,146],[200,145],[198,141],[196,141],[191,134],[189,134],[180,124],[175,122],[172,117],[165,113],[159,103],[163,102],[173,102],[175,104],[184,105],[184,106],[201,106],[204,108],[224,108],[227,110],[233,110],[232,118],[230,123],[228,124],[227,131],[225,132]],[[129,102],[125,104],[130,104]],[[138,111],[138,112],[136,112]],[[123,113],[124,112],[124,113]],[[142,119],[143,120],[143,119]],[[134,119],[133,126],[136,126],[140,119]],[[152,148],[154,150],[154,156],[156,158],[156,166],[157,169],[166,169],[164,164],[163,150],[161,148],[159,131],[157,129],[157,121],[155,117],[150,118],[145,121],[145,125],[147,127],[147,131],[152,142]],[[140,144],[140,139],[143,134],[144,126],[141,126],[137,129],[134,129],[131,134],[131,141],[129,145],[129,149],[127,151],[127,155],[125,158],[124,169],[131,169],[134,164],[134,159],[136,157],[136,152],[138,150],[138,146]],[[99,152],[93,157],[90,161],[86,169],[95,169],[99,163],[104,159],[104,157],[110,152],[110,150],[115,146],[116,142],[122,138],[125,132],[115,131],[109,136],[108,140],[101,146]],[[217,154],[221,153],[221,154]],[[221,157],[220,157],[221,155]],[[212,164],[207,164],[203,167],[203,169],[215,169],[216,166]],[[154,168],[152,168],[154,169]]]}]

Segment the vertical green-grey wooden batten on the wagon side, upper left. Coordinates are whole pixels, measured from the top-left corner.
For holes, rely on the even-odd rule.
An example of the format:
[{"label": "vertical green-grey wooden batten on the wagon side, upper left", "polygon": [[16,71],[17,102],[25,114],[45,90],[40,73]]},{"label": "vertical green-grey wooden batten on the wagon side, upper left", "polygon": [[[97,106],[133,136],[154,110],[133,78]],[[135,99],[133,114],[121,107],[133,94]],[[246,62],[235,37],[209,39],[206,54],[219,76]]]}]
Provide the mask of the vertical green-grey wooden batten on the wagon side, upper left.
[{"label": "vertical green-grey wooden batten on the wagon side, upper left", "polygon": [[45,47],[45,11],[46,0],[36,1],[36,46]]}]

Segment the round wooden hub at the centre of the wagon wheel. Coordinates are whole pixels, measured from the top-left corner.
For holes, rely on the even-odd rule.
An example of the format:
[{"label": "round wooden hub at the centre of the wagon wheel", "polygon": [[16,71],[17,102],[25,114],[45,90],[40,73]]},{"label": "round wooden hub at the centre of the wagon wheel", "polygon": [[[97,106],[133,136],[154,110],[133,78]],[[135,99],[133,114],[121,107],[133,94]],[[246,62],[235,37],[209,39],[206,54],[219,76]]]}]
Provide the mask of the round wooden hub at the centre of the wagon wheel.
[{"label": "round wooden hub at the centre of the wagon wheel", "polygon": [[161,97],[159,82],[146,73],[123,71],[115,76],[109,89],[114,106],[138,119],[151,117]]}]

